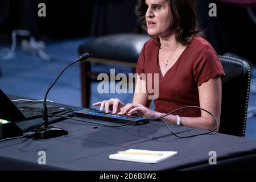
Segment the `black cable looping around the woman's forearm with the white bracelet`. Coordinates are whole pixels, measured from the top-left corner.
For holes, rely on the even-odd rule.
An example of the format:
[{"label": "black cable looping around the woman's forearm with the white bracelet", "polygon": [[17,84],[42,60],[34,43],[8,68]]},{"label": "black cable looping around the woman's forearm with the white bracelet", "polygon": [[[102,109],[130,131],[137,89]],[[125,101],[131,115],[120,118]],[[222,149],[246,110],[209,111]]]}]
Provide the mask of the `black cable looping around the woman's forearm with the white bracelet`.
[{"label": "black cable looping around the woman's forearm with the white bracelet", "polygon": [[[166,121],[163,121],[163,117],[166,117],[167,115],[170,115],[172,113],[175,113],[176,111],[179,111],[179,110],[183,110],[183,109],[187,109],[187,108],[196,108],[196,109],[201,109],[201,110],[204,110],[205,112],[207,112],[208,114],[210,114],[216,121],[217,125],[216,127],[214,127],[214,129],[210,130],[210,131],[207,131],[205,133],[201,133],[201,134],[195,134],[195,135],[187,135],[187,136],[180,136],[180,135],[177,135],[176,133],[174,133],[174,131],[171,130],[171,128],[168,126],[167,122]],[[201,107],[198,107],[198,106],[185,106],[185,107],[180,107],[179,109],[176,109],[174,111],[171,111],[170,113],[167,113],[167,114],[164,114],[162,117],[158,117],[158,118],[149,118],[150,121],[161,121],[161,122],[164,122],[166,124],[166,126],[168,127],[168,129],[171,131],[172,134],[174,134],[176,137],[179,137],[179,138],[190,138],[190,137],[196,137],[196,136],[199,136],[199,135],[206,135],[206,134],[210,134],[212,133],[213,131],[215,131],[217,128],[218,128],[218,119],[212,114],[210,113],[210,111],[208,110],[205,110]]]}]

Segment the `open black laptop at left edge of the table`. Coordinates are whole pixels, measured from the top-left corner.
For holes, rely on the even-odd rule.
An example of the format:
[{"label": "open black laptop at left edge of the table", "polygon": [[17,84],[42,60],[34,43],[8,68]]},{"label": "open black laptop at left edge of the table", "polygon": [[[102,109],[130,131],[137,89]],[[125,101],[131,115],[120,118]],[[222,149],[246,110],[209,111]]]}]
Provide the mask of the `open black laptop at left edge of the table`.
[{"label": "open black laptop at left edge of the table", "polygon": [[[60,104],[47,102],[48,113],[54,114],[71,110]],[[27,120],[42,117],[43,102],[12,102],[0,89],[0,118],[12,120]]]}]

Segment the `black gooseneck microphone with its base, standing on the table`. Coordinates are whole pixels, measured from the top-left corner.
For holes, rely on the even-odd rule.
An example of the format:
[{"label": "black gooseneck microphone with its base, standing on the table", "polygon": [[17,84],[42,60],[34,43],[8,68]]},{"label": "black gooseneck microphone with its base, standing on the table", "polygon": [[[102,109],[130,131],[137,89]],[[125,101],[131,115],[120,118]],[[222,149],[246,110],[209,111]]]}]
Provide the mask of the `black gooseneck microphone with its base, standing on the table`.
[{"label": "black gooseneck microphone with its base, standing on the table", "polygon": [[67,67],[63,69],[63,71],[60,73],[60,75],[55,79],[55,81],[52,82],[51,86],[48,88],[46,91],[46,94],[44,95],[44,101],[43,101],[43,126],[37,127],[33,129],[32,131],[35,131],[35,138],[38,139],[44,139],[44,138],[53,138],[53,137],[60,137],[61,135],[67,135],[68,131],[61,129],[59,127],[53,127],[53,126],[48,126],[48,109],[47,109],[47,104],[46,104],[46,98],[49,93],[49,90],[51,90],[52,86],[55,84],[55,82],[60,78],[60,76],[64,73],[65,69],[70,67],[72,64],[75,64],[79,61],[84,61],[90,57],[89,53],[85,52],[82,54],[79,59],[76,61],[73,61]]}]

